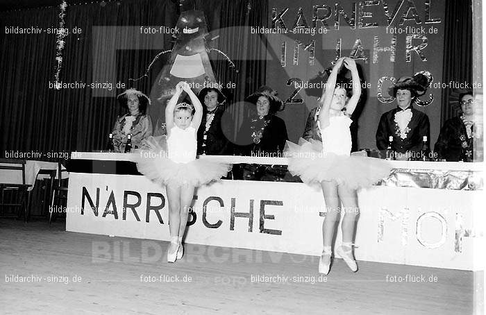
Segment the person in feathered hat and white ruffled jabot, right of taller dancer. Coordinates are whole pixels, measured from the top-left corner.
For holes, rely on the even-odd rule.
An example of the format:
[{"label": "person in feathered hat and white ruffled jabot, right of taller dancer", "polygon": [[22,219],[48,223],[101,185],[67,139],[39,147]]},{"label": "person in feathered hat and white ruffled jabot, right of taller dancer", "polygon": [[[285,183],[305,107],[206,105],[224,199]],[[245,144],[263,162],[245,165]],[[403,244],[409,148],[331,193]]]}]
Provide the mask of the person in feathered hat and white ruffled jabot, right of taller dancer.
[{"label": "person in feathered hat and white ruffled jabot, right of taller dancer", "polygon": [[[389,144],[389,137],[393,137],[392,149],[397,160],[407,160],[419,156],[424,136],[427,144],[430,142],[430,123],[428,116],[412,106],[414,99],[425,93],[428,83],[422,74],[412,78],[401,77],[392,87],[398,106],[385,112],[376,130],[376,146],[385,151]],[[428,146],[430,148],[430,146]]]}]

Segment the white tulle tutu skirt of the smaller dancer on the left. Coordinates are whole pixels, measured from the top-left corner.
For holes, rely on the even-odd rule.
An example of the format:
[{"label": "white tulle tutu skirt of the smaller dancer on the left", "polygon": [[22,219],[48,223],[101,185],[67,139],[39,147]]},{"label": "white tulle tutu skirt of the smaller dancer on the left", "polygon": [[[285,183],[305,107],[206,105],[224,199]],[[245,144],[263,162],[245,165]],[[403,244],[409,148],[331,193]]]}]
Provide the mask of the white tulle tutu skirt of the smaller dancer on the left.
[{"label": "white tulle tutu skirt of the smaller dancer on the left", "polygon": [[199,187],[213,180],[220,180],[231,171],[231,164],[196,159],[187,163],[169,160],[167,137],[149,137],[144,140],[144,149],[134,151],[137,169],[159,185],[171,187]]}]

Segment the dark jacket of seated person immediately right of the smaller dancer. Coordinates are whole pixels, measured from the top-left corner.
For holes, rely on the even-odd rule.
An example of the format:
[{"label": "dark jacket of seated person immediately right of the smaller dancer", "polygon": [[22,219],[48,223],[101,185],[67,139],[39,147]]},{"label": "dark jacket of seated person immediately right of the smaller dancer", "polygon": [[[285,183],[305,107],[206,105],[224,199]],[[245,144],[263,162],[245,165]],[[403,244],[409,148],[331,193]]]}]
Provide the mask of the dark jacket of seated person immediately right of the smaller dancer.
[{"label": "dark jacket of seated person immediately right of the smaller dancer", "polygon": [[[224,108],[218,105],[214,112],[214,118],[211,121],[210,127],[206,131],[206,122],[208,119],[208,112],[203,113],[201,125],[197,130],[197,154],[202,155],[232,155],[233,148],[231,142],[226,138],[228,130],[223,130],[224,126],[230,128],[233,124],[228,123],[221,126],[221,117],[223,117]],[[228,129],[226,128],[226,129]]]}]

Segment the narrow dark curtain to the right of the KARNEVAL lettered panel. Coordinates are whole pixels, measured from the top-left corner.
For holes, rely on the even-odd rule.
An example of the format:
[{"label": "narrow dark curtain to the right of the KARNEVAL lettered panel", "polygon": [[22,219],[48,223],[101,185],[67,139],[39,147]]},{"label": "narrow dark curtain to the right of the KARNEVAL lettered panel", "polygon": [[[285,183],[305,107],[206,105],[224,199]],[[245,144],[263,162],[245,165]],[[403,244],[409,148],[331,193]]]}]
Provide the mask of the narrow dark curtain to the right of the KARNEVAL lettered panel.
[{"label": "narrow dark curtain to the right of the KARNEVAL lettered panel", "polygon": [[[471,0],[446,1],[444,23],[444,68],[442,82],[451,81],[472,84],[473,75],[473,28]],[[472,88],[472,86],[471,86]],[[457,116],[458,93],[446,87],[442,90],[441,126]]]}]

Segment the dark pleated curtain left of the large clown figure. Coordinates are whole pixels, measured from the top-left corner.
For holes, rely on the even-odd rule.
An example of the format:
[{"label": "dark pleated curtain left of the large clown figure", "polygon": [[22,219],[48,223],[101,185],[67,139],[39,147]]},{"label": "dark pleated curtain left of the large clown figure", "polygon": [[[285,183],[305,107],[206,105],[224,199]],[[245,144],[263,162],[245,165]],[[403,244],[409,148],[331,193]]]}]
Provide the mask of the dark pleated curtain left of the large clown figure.
[{"label": "dark pleated curtain left of the large clown figure", "polygon": [[[103,5],[102,5],[103,4]],[[78,83],[69,89],[53,89],[56,35],[6,34],[1,44],[0,78],[6,90],[0,95],[1,151],[38,151],[42,160],[52,152],[91,151],[106,146],[108,133],[119,114],[115,96],[123,89],[116,83],[146,90],[149,80],[133,83],[157,51],[137,43],[133,33],[140,26],[175,24],[176,5],[169,0],[70,5],[65,17],[62,83]],[[58,28],[59,8],[35,8],[0,12],[1,27]],[[74,33],[73,29],[80,33]],[[2,32],[3,33],[3,32]],[[156,49],[171,46],[165,35]],[[144,46],[145,45],[145,46]],[[115,55],[108,53],[115,52]],[[113,63],[115,62],[115,67]],[[106,76],[115,69],[115,76]],[[107,80],[108,79],[108,80]],[[101,88],[81,84],[111,83]]]}]

